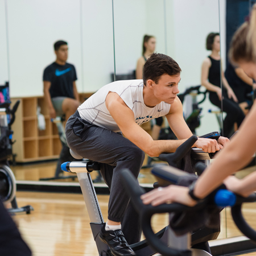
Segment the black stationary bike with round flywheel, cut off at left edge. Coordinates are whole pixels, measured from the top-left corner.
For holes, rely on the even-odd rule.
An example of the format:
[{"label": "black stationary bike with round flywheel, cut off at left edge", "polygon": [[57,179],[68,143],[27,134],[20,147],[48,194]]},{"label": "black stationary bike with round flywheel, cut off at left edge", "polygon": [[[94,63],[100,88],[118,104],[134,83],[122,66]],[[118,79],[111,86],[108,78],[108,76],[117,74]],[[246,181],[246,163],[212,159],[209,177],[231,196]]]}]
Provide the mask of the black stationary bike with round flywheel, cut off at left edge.
[{"label": "black stationary bike with round flywheel, cut off at left edge", "polygon": [[[11,203],[12,208],[9,209],[11,213],[30,213],[31,210],[34,210],[31,205],[19,208],[16,203],[16,180],[8,162],[8,158],[13,154],[12,144],[14,143],[11,125],[15,121],[15,112],[19,101],[15,103],[13,109],[10,109],[10,104],[10,101],[0,104],[0,199],[4,203]],[[8,117],[10,117],[9,121]]]}]

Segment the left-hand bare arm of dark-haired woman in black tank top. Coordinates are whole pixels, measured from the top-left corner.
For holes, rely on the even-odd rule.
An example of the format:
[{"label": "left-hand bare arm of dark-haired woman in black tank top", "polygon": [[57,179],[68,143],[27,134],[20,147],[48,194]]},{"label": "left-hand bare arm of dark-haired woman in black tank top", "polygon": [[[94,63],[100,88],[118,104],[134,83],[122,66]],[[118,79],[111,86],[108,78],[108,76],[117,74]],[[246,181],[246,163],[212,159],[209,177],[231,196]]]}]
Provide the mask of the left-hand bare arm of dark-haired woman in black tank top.
[{"label": "left-hand bare arm of dark-haired woman in black tank top", "polygon": [[203,86],[205,86],[205,88],[207,88],[207,90],[210,90],[212,92],[216,92],[217,95],[218,95],[218,98],[221,100],[221,98],[222,98],[221,88],[216,86],[216,85],[211,84],[208,81],[210,65],[211,65],[210,59],[206,58],[203,61],[202,69],[201,69],[201,84]]}]

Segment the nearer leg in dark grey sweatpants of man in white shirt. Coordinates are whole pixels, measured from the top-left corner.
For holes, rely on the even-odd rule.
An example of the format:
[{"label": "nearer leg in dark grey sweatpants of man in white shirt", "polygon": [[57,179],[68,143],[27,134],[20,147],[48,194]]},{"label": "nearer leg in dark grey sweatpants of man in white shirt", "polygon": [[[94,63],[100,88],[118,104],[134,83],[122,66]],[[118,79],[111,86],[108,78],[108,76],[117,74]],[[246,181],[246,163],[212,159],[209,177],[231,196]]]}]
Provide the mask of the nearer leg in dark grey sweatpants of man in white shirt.
[{"label": "nearer leg in dark grey sweatpants of man in white shirt", "polygon": [[[104,163],[101,173],[110,187],[108,218],[110,221],[121,222],[129,204],[129,197],[121,184],[120,170],[128,168],[138,177],[144,152],[122,135],[84,123],[81,118],[79,121],[73,116],[67,123],[66,135],[69,147],[77,154]],[[127,210],[127,216],[123,219],[125,226],[129,220],[134,220],[133,216],[128,216],[128,212],[134,214],[134,211]],[[129,225],[132,232],[128,232],[127,239],[130,241],[130,237],[134,240],[134,234],[139,233],[138,218]]]}]

